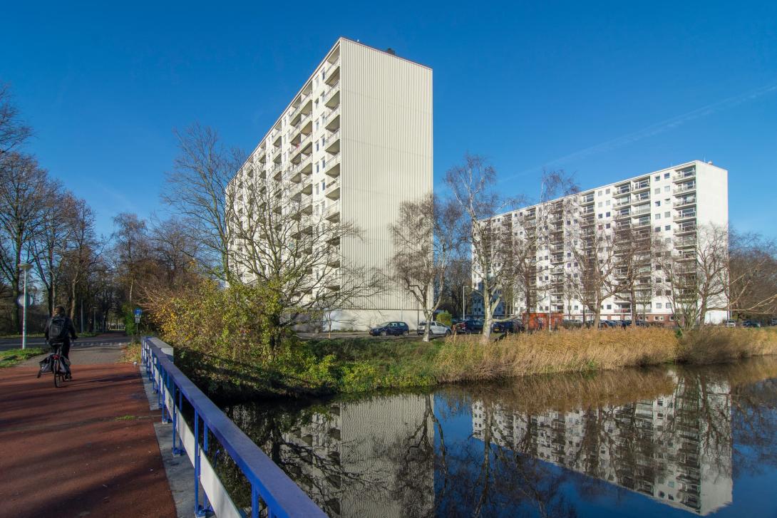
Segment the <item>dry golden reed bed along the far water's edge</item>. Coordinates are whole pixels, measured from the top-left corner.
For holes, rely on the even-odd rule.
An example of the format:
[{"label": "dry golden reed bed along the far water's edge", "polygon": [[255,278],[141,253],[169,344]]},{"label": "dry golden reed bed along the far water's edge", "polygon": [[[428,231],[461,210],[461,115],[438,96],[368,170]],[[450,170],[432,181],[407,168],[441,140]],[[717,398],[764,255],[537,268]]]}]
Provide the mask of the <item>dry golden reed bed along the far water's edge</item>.
[{"label": "dry golden reed bed along the far water's edge", "polygon": [[777,354],[775,329],[709,328],[678,338],[671,329],[577,329],[447,339],[435,360],[439,381],[611,370],[660,363],[720,363]]}]

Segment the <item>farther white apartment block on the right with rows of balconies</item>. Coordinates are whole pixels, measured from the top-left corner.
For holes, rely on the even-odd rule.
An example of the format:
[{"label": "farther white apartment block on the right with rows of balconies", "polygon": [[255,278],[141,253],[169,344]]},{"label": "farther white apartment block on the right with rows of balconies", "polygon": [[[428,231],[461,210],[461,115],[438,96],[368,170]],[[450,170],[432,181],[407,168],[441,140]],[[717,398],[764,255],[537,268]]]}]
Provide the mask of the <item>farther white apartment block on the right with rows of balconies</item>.
[{"label": "farther white apartment block on the right with rows of balconies", "polygon": [[[563,318],[582,321],[593,317],[570,290],[579,268],[572,247],[589,243],[592,235],[606,236],[608,246],[623,248],[624,240],[663,242],[674,256],[695,261],[705,238],[703,228],[728,224],[728,172],[698,160],[609,183],[556,200],[514,210],[492,218],[515,238],[535,236],[535,262],[527,308],[525,289],[517,287],[504,297],[495,315],[521,315],[524,311],[562,313]],[[537,233],[541,237],[537,238]],[[655,252],[653,252],[654,254]],[[655,258],[654,258],[655,259]],[[611,294],[601,304],[601,318],[631,318],[636,304],[639,318],[650,323],[674,325],[674,308],[664,273],[648,259],[636,283],[637,297]],[[622,272],[610,273],[617,280]],[[479,278],[473,276],[473,286]],[[525,284],[524,284],[525,286]],[[590,305],[590,304],[589,304]],[[483,315],[483,302],[473,301],[473,313]],[[706,322],[721,322],[726,311],[709,311]]]}]

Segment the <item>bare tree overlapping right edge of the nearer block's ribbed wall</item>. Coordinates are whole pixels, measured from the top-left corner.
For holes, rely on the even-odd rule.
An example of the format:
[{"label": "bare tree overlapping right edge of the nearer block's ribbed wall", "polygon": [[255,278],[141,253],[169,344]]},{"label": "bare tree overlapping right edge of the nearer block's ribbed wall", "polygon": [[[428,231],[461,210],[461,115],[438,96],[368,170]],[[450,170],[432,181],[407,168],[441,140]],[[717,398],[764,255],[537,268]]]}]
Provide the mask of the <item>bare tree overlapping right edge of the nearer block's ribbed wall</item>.
[{"label": "bare tree overlapping right edge of the nearer block's ribbed wall", "polygon": [[411,294],[427,322],[423,341],[430,339],[434,311],[448,287],[451,262],[462,235],[462,210],[458,203],[442,201],[433,194],[403,202],[399,219],[389,229],[394,256],[389,261],[392,281]]}]

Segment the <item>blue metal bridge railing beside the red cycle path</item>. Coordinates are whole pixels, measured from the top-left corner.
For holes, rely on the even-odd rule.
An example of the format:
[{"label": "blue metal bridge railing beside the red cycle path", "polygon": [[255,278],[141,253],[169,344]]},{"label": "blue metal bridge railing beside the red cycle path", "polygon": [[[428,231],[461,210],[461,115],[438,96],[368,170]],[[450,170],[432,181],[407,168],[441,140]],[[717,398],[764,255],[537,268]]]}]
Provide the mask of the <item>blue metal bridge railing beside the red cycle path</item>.
[{"label": "blue metal bridge railing beside the red cycle path", "polygon": [[[212,510],[209,506],[200,506],[199,503],[200,436],[203,438],[201,448],[207,453],[208,432],[221,443],[249,481],[252,518],[259,516],[260,499],[267,506],[268,518],[326,516],[153,342],[167,345],[158,339],[144,338],[142,358],[148,380],[155,383],[157,402],[162,409],[162,422],[172,422],[173,454],[183,453],[183,440],[179,431],[181,425],[178,422],[183,399],[194,409],[194,511],[197,516],[205,516],[207,511]],[[167,408],[168,401],[171,401],[175,408]]]}]

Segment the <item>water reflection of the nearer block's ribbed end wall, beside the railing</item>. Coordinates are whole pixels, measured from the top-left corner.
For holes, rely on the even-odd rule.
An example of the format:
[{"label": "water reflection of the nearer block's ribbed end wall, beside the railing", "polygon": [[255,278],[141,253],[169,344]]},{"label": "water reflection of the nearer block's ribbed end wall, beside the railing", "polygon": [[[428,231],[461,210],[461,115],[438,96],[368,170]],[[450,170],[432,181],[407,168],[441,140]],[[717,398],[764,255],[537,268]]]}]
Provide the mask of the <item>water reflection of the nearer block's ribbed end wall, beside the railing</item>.
[{"label": "water reflection of the nearer block's ribbed end wall, beside the railing", "polygon": [[[426,396],[407,395],[331,405],[284,434],[305,452],[300,458],[300,450],[287,450],[284,466],[296,466],[292,478],[329,516],[427,516],[434,509],[434,454],[402,464],[410,440],[434,452],[427,404]],[[409,495],[415,498],[405,501]]]}]

